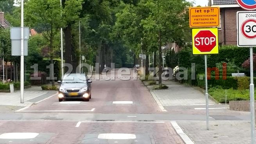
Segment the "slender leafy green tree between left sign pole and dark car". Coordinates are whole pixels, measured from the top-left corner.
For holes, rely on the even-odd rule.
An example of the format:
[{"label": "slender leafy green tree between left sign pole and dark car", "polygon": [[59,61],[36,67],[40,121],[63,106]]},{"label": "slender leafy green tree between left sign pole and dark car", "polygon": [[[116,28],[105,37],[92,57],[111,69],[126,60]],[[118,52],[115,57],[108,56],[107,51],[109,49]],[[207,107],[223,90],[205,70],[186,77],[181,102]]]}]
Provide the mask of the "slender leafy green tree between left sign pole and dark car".
[{"label": "slender leafy green tree between left sign pole and dark car", "polygon": [[29,27],[44,25],[43,37],[47,40],[50,50],[50,79],[54,86],[54,37],[63,25],[60,14],[61,7],[58,0],[29,0],[24,4],[25,22]]}]

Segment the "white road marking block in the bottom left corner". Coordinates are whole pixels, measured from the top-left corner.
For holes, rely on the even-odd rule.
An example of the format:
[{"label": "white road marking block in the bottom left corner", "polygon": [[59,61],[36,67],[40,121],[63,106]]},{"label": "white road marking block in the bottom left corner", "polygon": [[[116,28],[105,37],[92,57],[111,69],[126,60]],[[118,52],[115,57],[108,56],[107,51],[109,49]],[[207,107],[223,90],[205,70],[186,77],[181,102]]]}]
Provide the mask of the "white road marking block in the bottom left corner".
[{"label": "white road marking block in the bottom left corner", "polygon": [[39,133],[3,133],[0,139],[33,139],[38,135]]}]

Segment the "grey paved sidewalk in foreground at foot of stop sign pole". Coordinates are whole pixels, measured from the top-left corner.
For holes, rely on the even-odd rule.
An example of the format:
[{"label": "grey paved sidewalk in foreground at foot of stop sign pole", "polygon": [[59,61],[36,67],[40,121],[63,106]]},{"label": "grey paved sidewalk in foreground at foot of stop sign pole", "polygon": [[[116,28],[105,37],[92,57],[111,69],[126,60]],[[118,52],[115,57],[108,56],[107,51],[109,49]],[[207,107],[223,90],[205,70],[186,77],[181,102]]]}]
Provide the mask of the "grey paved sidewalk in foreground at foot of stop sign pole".
[{"label": "grey paved sidewalk in foreground at foot of stop sign pole", "polygon": [[195,144],[249,144],[251,124],[249,121],[177,121]]}]

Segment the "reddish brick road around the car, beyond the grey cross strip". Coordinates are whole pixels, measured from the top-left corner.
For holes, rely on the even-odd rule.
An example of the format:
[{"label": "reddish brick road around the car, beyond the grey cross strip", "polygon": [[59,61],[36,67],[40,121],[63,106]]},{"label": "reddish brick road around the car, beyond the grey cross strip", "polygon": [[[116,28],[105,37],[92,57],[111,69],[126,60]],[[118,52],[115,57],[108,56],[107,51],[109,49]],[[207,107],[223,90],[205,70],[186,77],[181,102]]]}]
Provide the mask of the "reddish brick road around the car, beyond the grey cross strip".
[{"label": "reddish brick road around the car, beyond the grey cross strip", "polygon": [[[60,104],[57,96],[55,96],[37,105],[32,105],[26,111],[91,110],[95,108],[94,113],[153,114],[161,112],[149,90],[140,80],[124,81],[120,78],[109,81],[93,80],[91,97],[89,102],[78,100],[81,103]],[[113,104],[113,101],[132,101],[133,103]]]}]

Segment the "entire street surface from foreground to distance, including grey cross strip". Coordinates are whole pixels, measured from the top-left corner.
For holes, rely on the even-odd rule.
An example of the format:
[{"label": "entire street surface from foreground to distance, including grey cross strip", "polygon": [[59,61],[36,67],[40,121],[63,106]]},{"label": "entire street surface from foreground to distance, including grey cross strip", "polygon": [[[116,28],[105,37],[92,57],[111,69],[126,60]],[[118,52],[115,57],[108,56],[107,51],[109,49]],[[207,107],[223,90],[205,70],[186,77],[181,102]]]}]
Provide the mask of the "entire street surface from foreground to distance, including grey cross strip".
[{"label": "entire street surface from foreground to distance, including grey cross strip", "polygon": [[88,102],[54,96],[0,114],[0,144],[185,144],[173,121],[205,120],[204,114],[162,112],[140,80],[109,76],[115,80],[93,79]]}]

